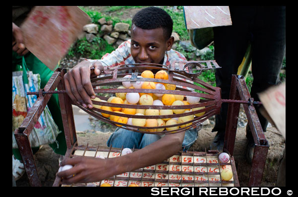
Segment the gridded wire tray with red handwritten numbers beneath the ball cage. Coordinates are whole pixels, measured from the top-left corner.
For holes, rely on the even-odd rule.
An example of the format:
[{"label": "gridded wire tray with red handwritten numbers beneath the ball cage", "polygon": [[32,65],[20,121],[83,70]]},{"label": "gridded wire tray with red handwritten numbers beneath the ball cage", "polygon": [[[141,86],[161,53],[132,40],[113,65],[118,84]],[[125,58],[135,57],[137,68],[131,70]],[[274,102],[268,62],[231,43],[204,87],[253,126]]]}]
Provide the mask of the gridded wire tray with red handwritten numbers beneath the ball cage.
[{"label": "gridded wire tray with red handwritten numbers beneath the ball cage", "polygon": [[[121,156],[123,148],[74,146],[72,154],[75,156],[103,156],[105,158]],[[138,149],[133,149],[137,151]],[[234,157],[230,156],[227,163],[219,162],[217,151],[179,151],[170,158],[152,166],[137,169],[131,172],[112,176],[108,179],[87,184],[62,184],[56,178],[53,186],[60,187],[98,187],[104,183],[112,187],[128,187],[137,184],[141,187],[237,187],[239,186]],[[221,178],[223,169],[230,169],[233,177],[229,181]]]}]

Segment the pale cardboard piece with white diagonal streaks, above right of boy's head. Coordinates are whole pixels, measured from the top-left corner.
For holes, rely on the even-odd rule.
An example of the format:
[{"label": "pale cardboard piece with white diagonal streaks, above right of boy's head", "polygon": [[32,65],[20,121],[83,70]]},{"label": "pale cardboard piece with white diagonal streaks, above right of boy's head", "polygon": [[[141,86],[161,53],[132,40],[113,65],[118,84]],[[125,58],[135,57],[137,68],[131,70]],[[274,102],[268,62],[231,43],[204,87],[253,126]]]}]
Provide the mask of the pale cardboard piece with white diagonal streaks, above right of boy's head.
[{"label": "pale cardboard piece with white diagonal streaks, above right of boy's head", "polygon": [[228,6],[184,6],[187,29],[232,25]]}]

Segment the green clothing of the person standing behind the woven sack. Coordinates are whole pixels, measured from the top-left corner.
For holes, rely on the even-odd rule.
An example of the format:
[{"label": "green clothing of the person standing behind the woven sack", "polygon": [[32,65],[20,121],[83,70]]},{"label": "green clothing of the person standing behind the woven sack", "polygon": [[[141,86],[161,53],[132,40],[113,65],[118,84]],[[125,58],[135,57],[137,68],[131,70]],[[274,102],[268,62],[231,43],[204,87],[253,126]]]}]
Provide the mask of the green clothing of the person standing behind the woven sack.
[{"label": "green clothing of the person standing behind the woven sack", "polygon": [[[40,88],[44,88],[52,74],[54,73],[51,69],[49,69],[44,63],[42,63],[35,55],[31,52],[28,52],[24,56],[25,62],[28,70],[32,71],[33,74],[40,74]],[[12,71],[22,70],[20,69],[20,65],[22,65],[22,56],[19,56],[15,51],[12,51]],[[54,152],[57,154],[65,155],[67,146],[62,122],[62,116],[60,112],[59,98],[58,94],[53,94],[51,99],[48,102],[49,110],[52,114],[53,120],[58,126],[59,130],[62,131],[57,136],[57,141],[59,143],[59,147],[56,143],[50,144],[49,146],[53,148]],[[38,147],[33,147],[32,152],[35,154],[38,151]],[[21,160],[20,152],[17,148],[12,148],[12,154],[16,159]]]}]

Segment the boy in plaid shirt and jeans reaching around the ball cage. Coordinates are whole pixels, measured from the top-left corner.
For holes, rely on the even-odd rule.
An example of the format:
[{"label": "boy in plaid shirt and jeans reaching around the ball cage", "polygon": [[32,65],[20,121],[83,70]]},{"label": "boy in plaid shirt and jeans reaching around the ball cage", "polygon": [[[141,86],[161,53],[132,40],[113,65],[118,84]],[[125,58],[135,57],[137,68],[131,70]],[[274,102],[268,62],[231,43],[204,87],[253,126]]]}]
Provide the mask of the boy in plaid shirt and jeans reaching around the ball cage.
[{"label": "boy in plaid shirt and jeans reaching around the ball cage", "polygon": [[[106,54],[101,60],[85,60],[77,64],[64,77],[67,93],[71,99],[84,107],[92,108],[91,98],[95,93],[90,83],[90,68],[99,75],[103,66],[117,66],[129,63],[158,63],[169,66],[174,60],[186,58],[171,49],[173,21],[162,9],[149,7],[139,11],[132,20],[131,40],[121,44],[118,49]],[[139,149],[131,154],[116,158],[77,157],[63,161],[61,165],[71,164],[70,170],[58,173],[65,183],[90,183],[154,165],[181,150],[189,148],[196,140],[199,128],[160,137],[154,134],[141,134],[118,128],[108,140],[113,147]],[[185,135],[186,133],[186,135]],[[132,162],[134,161],[134,162]]]}]

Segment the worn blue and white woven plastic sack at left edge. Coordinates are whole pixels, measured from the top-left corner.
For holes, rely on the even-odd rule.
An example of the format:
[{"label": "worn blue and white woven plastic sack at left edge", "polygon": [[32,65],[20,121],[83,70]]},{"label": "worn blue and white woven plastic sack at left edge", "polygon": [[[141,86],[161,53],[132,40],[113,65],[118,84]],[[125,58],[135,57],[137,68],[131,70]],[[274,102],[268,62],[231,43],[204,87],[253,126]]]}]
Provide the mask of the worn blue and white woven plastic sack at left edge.
[{"label": "worn blue and white woven plastic sack at left edge", "polygon": [[[24,60],[23,60],[24,61]],[[24,64],[24,62],[23,62]],[[40,75],[32,71],[12,72],[12,148],[18,148],[14,137],[14,131],[25,119],[37,99],[36,95],[26,95],[27,92],[35,92],[40,89]],[[23,73],[26,73],[23,75]],[[46,105],[33,130],[29,135],[31,147],[57,143],[56,137],[61,133],[54,122],[51,112]]]}]

